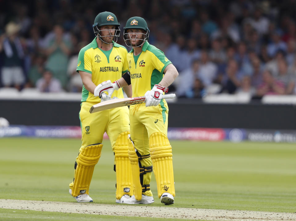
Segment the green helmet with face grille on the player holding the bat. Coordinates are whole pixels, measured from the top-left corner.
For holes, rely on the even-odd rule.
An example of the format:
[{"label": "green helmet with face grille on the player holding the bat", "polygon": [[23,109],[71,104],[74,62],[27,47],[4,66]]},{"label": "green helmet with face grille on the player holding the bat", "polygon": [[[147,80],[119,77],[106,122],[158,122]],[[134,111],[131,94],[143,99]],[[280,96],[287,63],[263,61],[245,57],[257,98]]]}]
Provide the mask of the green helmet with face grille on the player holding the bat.
[{"label": "green helmet with face grille on the player holding the bat", "polygon": [[[127,31],[129,29],[142,29],[144,31],[146,31],[146,34],[143,34],[145,37],[144,38],[137,38],[138,37],[138,33],[128,33]],[[128,47],[132,47],[131,43],[130,43],[130,39],[131,39],[131,34],[136,34],[135,39],[136,40],[142,40],[140,45],[136,45],[135,47],[140,47],[142,46],[146,41],[148,41],[149,38],[149,28],[147,26],[147,23],[145,21],[144,18],[135,16],[135,17],[131,17],[127,20],[126,25],[124,27],[124,32],[123,32],[123,39],[125,44]],[[134,38],[133,38],[134,39]]]}]

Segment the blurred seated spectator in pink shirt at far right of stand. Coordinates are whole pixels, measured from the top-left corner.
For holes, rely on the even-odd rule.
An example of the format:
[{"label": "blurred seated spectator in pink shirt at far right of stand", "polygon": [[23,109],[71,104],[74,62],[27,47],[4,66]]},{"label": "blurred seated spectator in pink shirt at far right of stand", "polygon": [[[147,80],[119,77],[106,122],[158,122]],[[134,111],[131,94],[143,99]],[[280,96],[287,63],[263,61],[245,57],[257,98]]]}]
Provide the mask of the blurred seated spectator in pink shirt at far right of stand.
[{"label": "blurred seated spectator in pink shirt at far right of stand", "polygon": [[256,95],[264,96],[267,94],[285,94],[285,84],[276,80],[269,70],[263,72],[263,81],[257,88]]}]

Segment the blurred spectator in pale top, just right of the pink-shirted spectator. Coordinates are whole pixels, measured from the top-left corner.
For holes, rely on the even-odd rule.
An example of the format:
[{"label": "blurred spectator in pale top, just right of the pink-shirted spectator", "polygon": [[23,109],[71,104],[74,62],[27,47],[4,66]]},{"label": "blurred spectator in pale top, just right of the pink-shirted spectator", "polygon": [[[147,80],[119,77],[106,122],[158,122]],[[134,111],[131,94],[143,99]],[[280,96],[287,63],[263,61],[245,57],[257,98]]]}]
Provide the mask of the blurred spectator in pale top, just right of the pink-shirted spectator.
[{"label": "blurred spectator in pale top, just right of the pink-shirted spectator", "polygon": [[285,94],[291,94],[295,87],[295,76],[288,73],[288,65],[284,59],[278,61],[278,74],[276,80],[281,81],[285,85]]}]

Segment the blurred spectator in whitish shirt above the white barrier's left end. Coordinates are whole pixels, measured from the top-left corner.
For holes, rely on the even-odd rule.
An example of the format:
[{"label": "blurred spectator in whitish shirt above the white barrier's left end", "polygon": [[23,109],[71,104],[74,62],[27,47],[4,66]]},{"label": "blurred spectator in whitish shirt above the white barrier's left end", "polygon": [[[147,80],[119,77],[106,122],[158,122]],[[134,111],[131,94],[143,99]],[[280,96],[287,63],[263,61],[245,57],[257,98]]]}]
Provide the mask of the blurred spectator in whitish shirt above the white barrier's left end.
[{"label": "blurred spectator in whitish shirt above the white barrier's left end", "polygon": [[202,51],[200,56],[198,78],[207,87],[211,85],[217,75],[217,65],[209,60],[207,51]]}]

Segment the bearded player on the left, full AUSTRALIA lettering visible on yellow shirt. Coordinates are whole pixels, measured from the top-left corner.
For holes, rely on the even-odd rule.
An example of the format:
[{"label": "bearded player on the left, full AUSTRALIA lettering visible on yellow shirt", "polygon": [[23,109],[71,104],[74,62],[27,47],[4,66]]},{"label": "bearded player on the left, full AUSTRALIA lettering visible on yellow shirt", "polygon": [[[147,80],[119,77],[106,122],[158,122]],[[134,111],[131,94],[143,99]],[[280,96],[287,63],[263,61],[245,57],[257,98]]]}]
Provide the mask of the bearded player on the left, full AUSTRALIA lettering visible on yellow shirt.
[{"label": "bearded player on the left, full AUSTRALIA lettering visible on yellow shirt", "polygon": [[[123,98],[123,92],[117,90],[113,95],[107,95],[97,86],[114,81],[122,75],[130,78],[127,72],[125,47],[116,43],[119,37],[119,23],[111,12],[97,15],[93,24],[95,39],[82,48],[78,56],[77,72],[83,81],[81,110],[79,113],[82,131],[82,144],[75,162],[74,180],[70,183],[69,193],[77,202],[92,202],[89,186],[103,147],[103,135],[109,136],[115,155],[114,170],[116,171],[116,202],[124,203],[133,195],[131,165],[128,156],[128,135],[130,120],[128,107],[114,108],[97,113],[89,113],[92,105],[113,97]],[[107,81],[108,80],[108,81]],[[104,82],[106,81],[106,82]],[[112,83],[111,83],[112,84]],[[101,85],[100,85],[101,87]],[[131,86],[123,87],[131,96]]]}]

